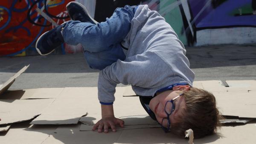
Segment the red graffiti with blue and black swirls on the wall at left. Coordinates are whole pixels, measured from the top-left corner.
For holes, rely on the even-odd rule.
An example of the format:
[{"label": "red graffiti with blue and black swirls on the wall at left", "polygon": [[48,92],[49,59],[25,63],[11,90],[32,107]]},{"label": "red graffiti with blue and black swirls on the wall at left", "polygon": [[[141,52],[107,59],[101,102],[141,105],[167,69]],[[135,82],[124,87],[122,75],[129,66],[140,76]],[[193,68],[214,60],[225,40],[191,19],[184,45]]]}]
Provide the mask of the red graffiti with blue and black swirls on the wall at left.
[{"label": "red graffiti with blue and black swirls on the wall at left", "polygon": [[66,4],[71,0],[2,0],[0,1],[0,55],[14,56],[35,52],[35,41],[52,29],[35,8],[46,12],[58,24],[68,20]]}]

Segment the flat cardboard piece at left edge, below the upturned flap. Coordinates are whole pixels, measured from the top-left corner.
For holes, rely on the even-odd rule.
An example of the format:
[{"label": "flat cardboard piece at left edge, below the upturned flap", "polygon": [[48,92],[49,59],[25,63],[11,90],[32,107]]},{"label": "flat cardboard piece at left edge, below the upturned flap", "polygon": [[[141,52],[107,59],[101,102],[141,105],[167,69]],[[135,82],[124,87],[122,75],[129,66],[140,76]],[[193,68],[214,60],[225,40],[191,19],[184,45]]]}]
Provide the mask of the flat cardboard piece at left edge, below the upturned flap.
[{"label": "flat cardboard piece at left edge, below the upturned flap", "polygon": [[54,99],[0,100],[0,125],[28,121],[35,118],[52,101]]}]

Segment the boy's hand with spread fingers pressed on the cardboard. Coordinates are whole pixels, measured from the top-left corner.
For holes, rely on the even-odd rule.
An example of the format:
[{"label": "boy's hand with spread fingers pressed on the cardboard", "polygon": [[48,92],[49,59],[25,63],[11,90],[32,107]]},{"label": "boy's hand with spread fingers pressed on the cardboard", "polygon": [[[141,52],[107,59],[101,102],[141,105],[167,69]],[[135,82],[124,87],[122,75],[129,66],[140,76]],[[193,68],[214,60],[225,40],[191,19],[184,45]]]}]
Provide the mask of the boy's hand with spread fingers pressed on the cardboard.
[{"label": "boy's hand with spread fingers pressed on the cardboard", "polygon": [[108,132],[108,127],[111,127],[112,132],[116,132],[116,125],[119,125],[120,127],[124,127],[124,121],[122,121],[119,118],[115,118],[114,115],[105,115],[102,116],[102,119],[99,120],[94,126],[93,130],[96,130],[98,128],[98,132],[102,132],[104,129],[104,132]]}]

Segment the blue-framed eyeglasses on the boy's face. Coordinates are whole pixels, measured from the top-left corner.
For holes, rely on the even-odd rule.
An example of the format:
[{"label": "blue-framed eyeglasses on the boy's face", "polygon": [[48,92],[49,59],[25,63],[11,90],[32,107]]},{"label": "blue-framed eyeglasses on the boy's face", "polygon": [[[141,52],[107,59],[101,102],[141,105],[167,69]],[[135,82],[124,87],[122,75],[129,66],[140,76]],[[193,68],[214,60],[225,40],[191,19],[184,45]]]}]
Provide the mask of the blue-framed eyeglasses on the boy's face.
[{"label": "blue-framed eyeglasses on the boy's face", "polygon": [[[166,104],[165,104],[165,107],[164,107],[164,111],[166,112],[166,115],[167,115],[167,118],[163,118],[162,120],[162,129],[165,131],[165,132],[170,132],[170,128],[171,128],[171,121],[170,121],[170,115],[172,115],[172,112],[175,110],[175,104],[174,104],[174,101],[179,98],[182,94],[178,95],[177,97],[173,98],[172,100],[170,101],[166,101]],[[167,109],[166,109],[167,108]],[[171,109],[170,109],[171,108]],[[167,126],[167,127],[164,127],[163,125]]]}]

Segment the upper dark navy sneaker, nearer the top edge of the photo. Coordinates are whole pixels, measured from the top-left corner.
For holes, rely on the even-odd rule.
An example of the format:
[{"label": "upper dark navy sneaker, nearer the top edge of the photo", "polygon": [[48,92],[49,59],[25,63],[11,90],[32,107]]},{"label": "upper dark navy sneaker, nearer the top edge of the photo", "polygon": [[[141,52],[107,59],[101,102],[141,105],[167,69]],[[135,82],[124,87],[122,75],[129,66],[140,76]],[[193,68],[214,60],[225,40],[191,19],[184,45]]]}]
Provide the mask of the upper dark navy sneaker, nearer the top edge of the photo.
[{"label": "upper dark navy sneaker, nearer the top edge of the photo", "polygon": [[94,20],[87,9],[78,2],[70,2],[66,6],[67,13],[72,20],[79,20],[81,22],[97,24],[98,22]]}]

